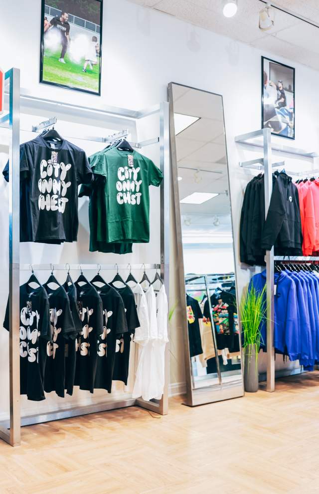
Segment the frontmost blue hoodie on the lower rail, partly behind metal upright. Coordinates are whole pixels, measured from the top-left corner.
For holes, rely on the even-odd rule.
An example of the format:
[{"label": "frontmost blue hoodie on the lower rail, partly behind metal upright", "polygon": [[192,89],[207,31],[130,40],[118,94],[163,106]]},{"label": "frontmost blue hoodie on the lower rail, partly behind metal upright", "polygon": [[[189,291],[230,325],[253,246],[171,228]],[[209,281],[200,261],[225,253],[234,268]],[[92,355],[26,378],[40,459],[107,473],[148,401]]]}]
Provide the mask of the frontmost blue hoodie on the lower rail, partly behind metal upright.
[{"label": "frontmost blue hoodie on the lower rail, partly behind metal upright", "polygon": [[[249,283],[257,291],[263,289],[266,283],[266,271],[255,274]],[[279,353],[287,354],[291,360],[300,356],[300,320],[297,310],[297,288],[292,277],[287,273],[275,273],[275,318],[274,318],[274,347]],[[266,297],[266,295],[265,295]],[[262,348],[267,344],[266,320],[261,324]]]}]

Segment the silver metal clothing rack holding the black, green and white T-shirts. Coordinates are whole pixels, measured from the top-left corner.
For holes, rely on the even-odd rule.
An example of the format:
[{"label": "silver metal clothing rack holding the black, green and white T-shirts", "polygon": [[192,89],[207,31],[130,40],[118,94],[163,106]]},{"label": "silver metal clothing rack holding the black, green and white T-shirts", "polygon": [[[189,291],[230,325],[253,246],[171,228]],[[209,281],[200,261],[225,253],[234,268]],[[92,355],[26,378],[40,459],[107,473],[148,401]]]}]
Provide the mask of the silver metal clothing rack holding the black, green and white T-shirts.
[{"label": "silver metal clothing rack holding the black, green and white T-shirts", "polygon": [[[20,444],[20,427],[21,425],[37,424],[50,420],[58,420],[68,417],[113,410],[128,406],[140,406],[147,410],[167,414],[168,410],[168,380],[169,380],[169,349],[168,344],[165,349],[165,384],[163,395],[160,400],[145,401],[142,398],[127,398],[113,401],[107,400],[105,403],[95,405],[85,405],[67,409],[58,409],[50,413],[35,414],[21,418],[20,413],[20,371],[19,371],[19,274],[20,270],[30,269],[30,264],[21,264],[19,262],[19,146],[20,146],[20,103],[32,108],[40,107],[41,110],[56,113],[57,109],[61,114],[77,116],[78,119],[95,119],[98,122],[105,122],[109,119],[117,127],[120,125],[136,125],[139,119],[150,115],[158,115],[160,123],[160,136],[143,143],[137,143],[139,146],[151,143],[160,144],[160,170],[164,179],[160,186],[160,264],[145,264],[146,269],[158,269],[161,271],[161,278],[164,281],[167,297],[169,295],[169,112],[168,103],[162,102],[151,108],[135,111],[112,106],[87,107],[73,103],[61,103],[43,97],[37,97],[23,90],[20,94],[20,71],[12,68],[5,73],[5,94],[8,95],[8,112],[0,117],[0,127],[10,130],[9,142],[9,404],[10,420],[9,423],[0,424],[0,438],[11,446]],[[42,122],[45,124],[45,122]],[[86,139],[80,136],[76,138]],[[102,138],[93,138],[101,142]],[[91,140],[88,138],[87,140]],[[106,142],[106,141],[105,141]],[[68,266],[68,265],[67,265]],[[97,264],[70,264],[70,269],[96,269]],[[98,264],[100,267],[100,264]],[[52,269],[49,264],[34,264],[32,266],[37,270]],[[69,266],[68,266],[69,267]],[[67,267],[67,268],[68,268]],[[120,268],[127,269],[127,264],[120,264]],[[102,269],[115,269],[114,264],[102,264]],[[144,264],[143,264],[144,268]],[[58,264],[54,269],[66,269],[66,264]],[[132,269],[141,269],[141,264],[132,264]],[[111,397],[112,398],[112,397]]]}]

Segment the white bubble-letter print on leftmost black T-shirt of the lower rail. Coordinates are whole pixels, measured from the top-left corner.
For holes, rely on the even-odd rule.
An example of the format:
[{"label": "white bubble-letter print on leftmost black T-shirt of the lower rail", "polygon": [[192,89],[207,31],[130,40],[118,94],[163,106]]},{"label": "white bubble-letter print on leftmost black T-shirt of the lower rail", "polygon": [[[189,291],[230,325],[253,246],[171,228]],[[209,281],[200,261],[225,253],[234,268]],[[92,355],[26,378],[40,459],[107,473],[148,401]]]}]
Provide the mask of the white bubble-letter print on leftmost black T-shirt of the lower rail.
[{"label": "white bubble-letter print on leftmost black T-shirt of the lower rail", "polygon": [[[20,326],[20,357],[27,357],[29,362],[38,362],[39,347],[32,348],[31,344],[37,344],[38,337],[40,336],[40,331],[38,331],[40,316],[38,311],[32,311],[31,307],[27,303],[26,307],[22,307],[20,312],[20,321],[22,324]],[[36,327],[32,329],[34,324]]]}]

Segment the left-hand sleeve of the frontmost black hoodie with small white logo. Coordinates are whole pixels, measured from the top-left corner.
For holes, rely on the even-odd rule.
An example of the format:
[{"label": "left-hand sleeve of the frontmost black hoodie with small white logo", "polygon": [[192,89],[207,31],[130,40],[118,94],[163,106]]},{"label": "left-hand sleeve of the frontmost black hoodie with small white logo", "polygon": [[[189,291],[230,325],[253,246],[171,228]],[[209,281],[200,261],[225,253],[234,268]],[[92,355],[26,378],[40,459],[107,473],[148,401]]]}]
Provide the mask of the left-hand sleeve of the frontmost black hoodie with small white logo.
[{"label": "left-hand sleeve of the frontmost black hoodie with small white logo", "polygon": [[287,201],[285,189],[280,187],[280,185],[281,181],[278,177],[274,184],[262,237],[261,247],[266,250],[271,250],[275,245],[283,222],[287,216],[285,208],[285,200]]}]

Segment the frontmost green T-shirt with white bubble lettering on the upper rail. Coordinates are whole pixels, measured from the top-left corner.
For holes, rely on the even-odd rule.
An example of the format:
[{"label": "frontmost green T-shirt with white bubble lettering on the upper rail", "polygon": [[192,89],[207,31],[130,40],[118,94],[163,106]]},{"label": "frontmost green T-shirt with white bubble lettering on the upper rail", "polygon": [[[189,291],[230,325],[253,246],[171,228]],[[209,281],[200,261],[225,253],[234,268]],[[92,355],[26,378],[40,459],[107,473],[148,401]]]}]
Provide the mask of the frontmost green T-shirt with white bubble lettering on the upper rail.
[{"label": "frontmost green T-shirt with white bubble lettering on the upper rail", "polygon": [[105,182],[106,242],[148,243],[149,186],[159,187],[160,169],[137,151],[111,148],[91,158],[94,175]]}]

